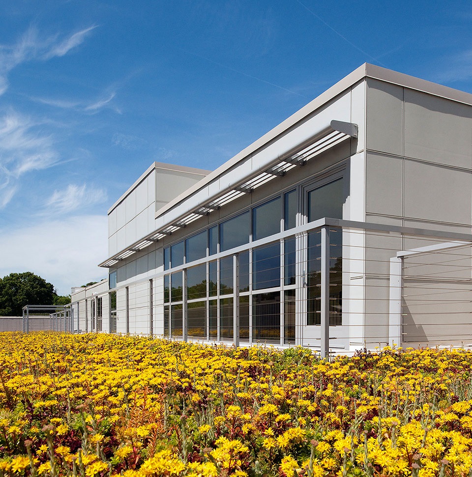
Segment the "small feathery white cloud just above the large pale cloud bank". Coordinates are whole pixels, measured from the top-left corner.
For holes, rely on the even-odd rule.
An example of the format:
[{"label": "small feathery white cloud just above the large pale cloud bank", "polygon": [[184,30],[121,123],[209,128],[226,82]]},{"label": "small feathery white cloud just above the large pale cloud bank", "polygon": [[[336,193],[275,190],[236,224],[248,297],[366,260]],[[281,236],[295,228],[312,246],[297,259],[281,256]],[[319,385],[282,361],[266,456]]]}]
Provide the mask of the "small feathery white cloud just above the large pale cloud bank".
[{"label": "small feathery white cloud just above the large pale cloud bank", "polygon": [[69,184],[62,191],[54,191],[46,201],[45,213],[63,214],[70,213],[79,208],[103,203],[107,200],[107,194],[103,189],[94,189],[86,184],[77,186]]}]

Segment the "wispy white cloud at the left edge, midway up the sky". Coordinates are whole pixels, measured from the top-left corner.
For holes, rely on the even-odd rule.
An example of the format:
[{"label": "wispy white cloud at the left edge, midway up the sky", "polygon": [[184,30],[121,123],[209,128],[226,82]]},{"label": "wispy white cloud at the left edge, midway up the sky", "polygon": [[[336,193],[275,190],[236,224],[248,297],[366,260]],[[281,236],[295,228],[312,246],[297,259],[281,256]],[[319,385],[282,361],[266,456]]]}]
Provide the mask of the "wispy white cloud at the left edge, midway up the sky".
[{"label": "wispy white cloud at the left edge, midway up the sky", "polygon": [[14,196],[20,176],[59,162],[53,137],[41,134],[40,126],[14,111],[0,117],[0,207]]}]

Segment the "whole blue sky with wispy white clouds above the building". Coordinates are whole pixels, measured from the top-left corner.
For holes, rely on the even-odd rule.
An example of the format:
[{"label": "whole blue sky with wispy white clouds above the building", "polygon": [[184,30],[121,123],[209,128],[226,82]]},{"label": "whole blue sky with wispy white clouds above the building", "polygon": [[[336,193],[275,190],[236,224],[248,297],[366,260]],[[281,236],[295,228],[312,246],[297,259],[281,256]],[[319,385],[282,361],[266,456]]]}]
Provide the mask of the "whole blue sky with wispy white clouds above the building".
[{"label": "whole blue sky with wispy white clouds above the building", "polygon": [[106,277],[153,161],[214,169],[364,62],[472,92],[470,1],[0,2],[0,277]]}]

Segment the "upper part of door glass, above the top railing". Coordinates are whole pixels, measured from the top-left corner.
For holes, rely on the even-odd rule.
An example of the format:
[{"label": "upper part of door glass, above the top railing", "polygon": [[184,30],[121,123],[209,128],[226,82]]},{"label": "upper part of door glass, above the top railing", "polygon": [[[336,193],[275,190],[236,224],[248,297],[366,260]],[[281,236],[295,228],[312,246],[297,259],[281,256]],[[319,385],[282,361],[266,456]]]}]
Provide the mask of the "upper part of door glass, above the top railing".
[{"label": "upper part of door glass, above the top railing", "polygon": [[337,179],[308,193],[308,222],[343,218],[343,180]]}]

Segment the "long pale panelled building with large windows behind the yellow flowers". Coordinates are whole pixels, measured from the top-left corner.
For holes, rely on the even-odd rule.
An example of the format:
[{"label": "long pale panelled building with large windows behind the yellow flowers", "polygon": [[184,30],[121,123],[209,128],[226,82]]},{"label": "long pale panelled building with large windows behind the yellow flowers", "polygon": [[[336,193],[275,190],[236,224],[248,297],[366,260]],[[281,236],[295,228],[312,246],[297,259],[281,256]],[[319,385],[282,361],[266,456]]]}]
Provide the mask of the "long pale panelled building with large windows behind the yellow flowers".
[{"label": "long pale panelled building with large windows behind the yellow flowers", "polygon": [[108,221],[81,331],[467,344],[472,95],[364,64],[214,171],[151,165]]}]

